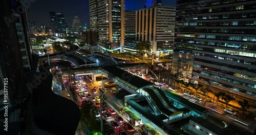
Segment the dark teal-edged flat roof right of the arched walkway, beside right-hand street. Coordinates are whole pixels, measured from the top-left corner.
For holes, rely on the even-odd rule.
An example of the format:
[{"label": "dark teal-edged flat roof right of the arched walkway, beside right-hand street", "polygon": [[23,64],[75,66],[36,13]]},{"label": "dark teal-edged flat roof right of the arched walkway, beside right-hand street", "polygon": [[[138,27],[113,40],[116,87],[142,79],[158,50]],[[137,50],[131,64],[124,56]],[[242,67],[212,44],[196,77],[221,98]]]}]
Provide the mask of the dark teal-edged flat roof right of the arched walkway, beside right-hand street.
[{"label": "dark teal-edged flat roof right of the arched walkway, beside right-hand street", "polygon": [[170,99],[172,99],[172,100],[182,104],[183,106],[189,108],[190,110],[196,111],[199,114],[209,113],[208,109],[206,109],[206,108],[204,108],[204,107],[202,107],[202,106],[200,106],[198,104],[192,103],[192,102],[190,102],[190,101],[188,101],[188,100],[186,100],[186,99],[184,99],[184,98],[182,98],[182,97],[180,97],[178,95],[172,94],[170,92],[166,92],[165,95],[168,98],[170,98]]}]

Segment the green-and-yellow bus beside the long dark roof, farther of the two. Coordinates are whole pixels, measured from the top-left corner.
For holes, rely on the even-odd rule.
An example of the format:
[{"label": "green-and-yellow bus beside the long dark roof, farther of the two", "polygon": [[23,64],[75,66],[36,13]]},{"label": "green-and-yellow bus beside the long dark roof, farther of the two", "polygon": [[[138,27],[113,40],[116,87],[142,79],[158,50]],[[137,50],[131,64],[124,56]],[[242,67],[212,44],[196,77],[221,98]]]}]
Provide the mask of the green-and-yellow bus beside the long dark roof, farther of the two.
[{"label": "green-and-yellow bus beside the long dark roof, farther of the two", "polygon": [[142,119],[133,113],[128,107],[122,107],[120,114],[126,117],[133,125],[138,126],[142,124]]}]

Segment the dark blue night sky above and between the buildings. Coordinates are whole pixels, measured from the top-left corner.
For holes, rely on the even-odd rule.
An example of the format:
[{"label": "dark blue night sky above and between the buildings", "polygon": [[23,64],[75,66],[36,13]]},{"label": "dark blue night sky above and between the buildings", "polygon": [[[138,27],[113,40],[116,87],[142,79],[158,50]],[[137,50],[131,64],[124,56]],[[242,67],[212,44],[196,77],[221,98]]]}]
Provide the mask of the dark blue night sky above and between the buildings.
[{"label": "dark blue night sky above and between the buildings", "polygon": [[[176,0],[162,0],[165,6],[176,6]],[[143,8],[143,0],[125,0],[125,9],[133,11]],[[50,26],[49,12],[62,13],[69,27],[72,25],[74,14],[77,14],[81,24],[90,25],[89,1],[88,0],[36,0],[27,9],[29,20],[34,20],[35,25]]]}]

